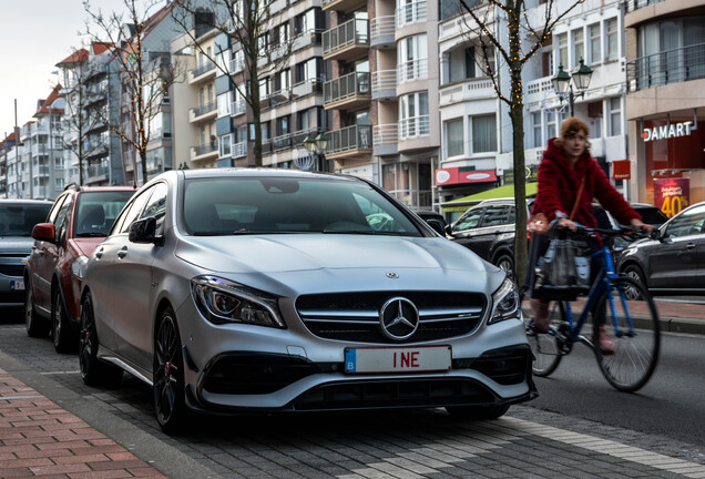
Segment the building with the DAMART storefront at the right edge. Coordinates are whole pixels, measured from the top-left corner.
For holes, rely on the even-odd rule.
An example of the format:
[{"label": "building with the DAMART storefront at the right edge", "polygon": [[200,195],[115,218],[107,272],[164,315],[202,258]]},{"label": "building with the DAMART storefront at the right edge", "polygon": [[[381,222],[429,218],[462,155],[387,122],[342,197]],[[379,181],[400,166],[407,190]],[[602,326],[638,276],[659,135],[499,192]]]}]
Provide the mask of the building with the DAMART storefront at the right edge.
[{"label": "building with the DAMART storefront at the right edge", "polygon": [[705,1],[627,0],[629,179],[673,215],[705,201]]}]

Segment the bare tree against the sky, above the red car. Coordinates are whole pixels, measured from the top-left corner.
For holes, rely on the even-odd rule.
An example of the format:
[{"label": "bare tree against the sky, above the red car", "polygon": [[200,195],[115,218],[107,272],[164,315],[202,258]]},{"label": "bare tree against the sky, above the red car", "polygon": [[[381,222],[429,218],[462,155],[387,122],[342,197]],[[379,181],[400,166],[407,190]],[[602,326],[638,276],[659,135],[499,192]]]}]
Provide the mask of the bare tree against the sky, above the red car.
[{"label": "bare tree against the sky, above the red car", "polygon": [[[152,50],[147,41],[154,28],[171,14],[174,4],[165,6],[163,0],[122,0],[122,4],[124,13],[106,16],[100,9],[94,10],[90,0],[84,0],[89,13],[85,34],[105,42],[111,61],[119,65],[121,110],[126,112],[119,120],[110,114],[102,115],[102,120],[110,131],[136,150],[142,179],[146,182],[151,122],[176,75],[171,62],[164,61],[168,48]],[[136,173],[136,157],[133,166]]]}]

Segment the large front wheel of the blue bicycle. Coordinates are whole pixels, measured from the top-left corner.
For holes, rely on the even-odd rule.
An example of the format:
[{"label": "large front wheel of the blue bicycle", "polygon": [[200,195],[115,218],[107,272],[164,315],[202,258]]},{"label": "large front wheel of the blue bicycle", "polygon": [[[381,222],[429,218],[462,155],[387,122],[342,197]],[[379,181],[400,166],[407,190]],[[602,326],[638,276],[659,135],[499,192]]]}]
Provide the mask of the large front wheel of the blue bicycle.
[{"label": "large front wheel of the blue bicycle", "polygon": [[[630,292],[638,295],[627,294]],[[658,361],[661,330],[656,305],[641,283],[623,276],[612,281],[611,291],[602,294],[595,312],[592,337],[600,337],[600,324],[604,323],[605,333],[614,344],[614,351],[606,347],[603,351],[601,340],[595,340],[600,369],[616,389],[633,393],[646,384]],[[606,320],[603,320],[605,313]]]}]

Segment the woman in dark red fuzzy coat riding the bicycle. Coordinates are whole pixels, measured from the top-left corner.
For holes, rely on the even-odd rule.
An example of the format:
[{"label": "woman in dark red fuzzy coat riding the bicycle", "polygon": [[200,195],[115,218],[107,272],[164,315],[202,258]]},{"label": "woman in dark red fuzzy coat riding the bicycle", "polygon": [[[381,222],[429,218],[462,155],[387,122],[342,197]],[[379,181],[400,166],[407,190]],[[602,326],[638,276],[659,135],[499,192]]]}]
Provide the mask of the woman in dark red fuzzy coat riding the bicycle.
[{"label": "woman in dark red fuzzy coat riding the bicycle", "polygon": [[[548,222],[558,220],[558,227],[572,231],[578,228],[575,223],[596,227],[597,220],[592,206],[593,198],[596,198],[620,223],[646,232],[653,231],[653,226],[644,224],[640,214],[612,186],[591,156],[589,134],[585,122],[573,116],[563,122],[559,137],[549,140],[539,166],[539,190],[531,215],[543,214]],[[593,273],[599,269],[599,265],[591,267]],[[546,333],[550,323],[549,302],[532,298],[531,312],[535,330]],[[599,336],[603,353],[614,353],[614,344],[604,326],[600,327]]]}]

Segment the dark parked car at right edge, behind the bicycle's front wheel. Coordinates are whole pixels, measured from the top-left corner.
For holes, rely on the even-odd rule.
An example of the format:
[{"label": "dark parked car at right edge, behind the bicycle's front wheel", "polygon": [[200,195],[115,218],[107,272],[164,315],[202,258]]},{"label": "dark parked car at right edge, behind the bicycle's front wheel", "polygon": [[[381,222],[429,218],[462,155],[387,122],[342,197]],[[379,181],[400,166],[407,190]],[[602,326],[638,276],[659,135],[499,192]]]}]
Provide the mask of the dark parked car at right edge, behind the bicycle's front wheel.
[{"label": "dark parked car at right edge, behind the bicycle's front wheel", "polygon": [[656,236],[627,246],[617,269],[653,294],[705,294],[705,202],[673,216]]}]

